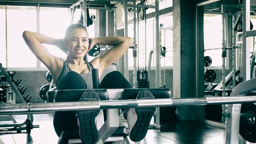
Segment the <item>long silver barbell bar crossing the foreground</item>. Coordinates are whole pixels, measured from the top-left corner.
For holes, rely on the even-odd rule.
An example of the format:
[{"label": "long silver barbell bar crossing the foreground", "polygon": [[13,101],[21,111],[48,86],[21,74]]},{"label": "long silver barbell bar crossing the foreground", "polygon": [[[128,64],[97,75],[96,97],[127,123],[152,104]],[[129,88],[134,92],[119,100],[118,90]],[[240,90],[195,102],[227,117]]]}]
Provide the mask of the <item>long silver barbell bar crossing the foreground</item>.
[{"label": "long silver barbell bar crossing the foreground", "polygon": [[49,102],[21,103],[0,105],[0,115],[7,114],[42,114],[54,111],[118,109],[132,107],[174,107],[189,105],[219,105],[256,103],[256,96],[203,97],[203,98],[168,98],[143,100],[99,100],[85,102]]}]

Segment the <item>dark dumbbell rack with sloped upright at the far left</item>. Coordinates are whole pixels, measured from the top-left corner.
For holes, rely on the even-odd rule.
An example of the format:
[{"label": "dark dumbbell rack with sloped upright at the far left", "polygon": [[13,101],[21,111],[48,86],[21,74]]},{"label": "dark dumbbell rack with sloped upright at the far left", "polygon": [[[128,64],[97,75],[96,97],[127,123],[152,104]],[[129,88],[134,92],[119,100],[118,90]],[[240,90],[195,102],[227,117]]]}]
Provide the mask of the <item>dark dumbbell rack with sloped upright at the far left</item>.
[{"label": "dark dumbbell rack with sloped upright at the far left", "polygon": [[[4,67],[2,67],[1,64],[0,64],[0,71],[2,72],[2,74],[4,74],[6,81],[8,81],[9,84],[12,86],[12,90],[16,94],[16,98],[18,98],[18,100],[21,103],[28,103],[31,96],[30,97],[29,95],[26,95],[25,97],[23,96],[24,92],[26,91],[26,88],[24,87],[22,87],[21,89],[17,88],[21,80],[18,79],[17,81],[14,81],[14,74],[16,73],[16,71],[9,72]],[[8,104],[2,104],[2,105],[8,105]],[[10,117],[10,116],[7,116],[7,117]],[[33,115],[28,114],[26,121],[24,121],[23,123],[1,124],[0,132],[6,132],[6,131],[21,132],[21,130],[26,130],[27,134],[30,135],[31,129],[39,128],[39,125],[33,125],[32,123],[33,123]]]}]

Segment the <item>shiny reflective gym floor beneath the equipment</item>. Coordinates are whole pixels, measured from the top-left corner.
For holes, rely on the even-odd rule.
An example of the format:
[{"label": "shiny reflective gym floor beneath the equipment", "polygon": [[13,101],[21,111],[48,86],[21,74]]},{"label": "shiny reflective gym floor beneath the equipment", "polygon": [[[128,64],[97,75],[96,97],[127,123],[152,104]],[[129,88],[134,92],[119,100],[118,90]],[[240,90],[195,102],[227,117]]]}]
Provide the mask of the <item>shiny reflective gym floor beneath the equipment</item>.
[{"label": "shiny reflective gym floor beneath the equipment", "polygon": [[[53,127],[53,114],[34,114],[33,116],[33,125],[40,125],[40,128],[32,129],[30,136],[26,134],[26,130],[21,133],[1,132],[0,144],[57,144],[58,136]],[[23,123],[26,115],[17,115],[14,118],[17,123]],[[151,128],[146,137],[135,144],[225,144],[226,129],[224,128],[198,121],[178,121],[162,125],[163,130]],[[241,138],[239,143],[242,144]]]}]

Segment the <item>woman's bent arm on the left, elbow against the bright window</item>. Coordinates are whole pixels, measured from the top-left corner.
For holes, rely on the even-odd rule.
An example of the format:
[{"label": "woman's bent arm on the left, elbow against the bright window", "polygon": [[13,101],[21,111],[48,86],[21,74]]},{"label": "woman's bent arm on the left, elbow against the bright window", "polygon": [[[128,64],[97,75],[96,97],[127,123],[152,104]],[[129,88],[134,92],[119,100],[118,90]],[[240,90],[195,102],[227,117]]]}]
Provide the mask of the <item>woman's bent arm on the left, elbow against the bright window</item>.
[{"label": "woman's bent arm on the left, elbow against the bright window", "polygon": [[49,53],[42,44],[52,44],[58,47],[64,47],[62,39],[54,39],[46,35],[30,31],[24,31],[22,36],[35,56],[44,63],[49,70],[56,70],[56,60],[58,61],[58,58]]}]

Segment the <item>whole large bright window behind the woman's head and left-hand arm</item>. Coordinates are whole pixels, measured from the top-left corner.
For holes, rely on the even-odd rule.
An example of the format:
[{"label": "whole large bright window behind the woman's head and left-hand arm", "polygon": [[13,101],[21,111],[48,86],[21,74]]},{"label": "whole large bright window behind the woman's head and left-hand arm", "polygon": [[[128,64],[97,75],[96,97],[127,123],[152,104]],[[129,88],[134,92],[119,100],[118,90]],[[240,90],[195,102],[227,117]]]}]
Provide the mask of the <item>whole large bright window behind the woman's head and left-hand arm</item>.
[{"label": "whole large bright window behind the woman's head and left-hand arm", "polygon": [[[39,30],[50,37],[64,38],[70,24],[69,8],[0,6],[0,17],[0,63],[3,67],[20,70],[46,69],[26,45],[22,37],[24,30]],[[94,31],[93,28],[90,30]],[[53,55],[60,58],[66,56],[56,46],[44,45]]]}]

